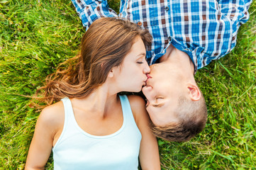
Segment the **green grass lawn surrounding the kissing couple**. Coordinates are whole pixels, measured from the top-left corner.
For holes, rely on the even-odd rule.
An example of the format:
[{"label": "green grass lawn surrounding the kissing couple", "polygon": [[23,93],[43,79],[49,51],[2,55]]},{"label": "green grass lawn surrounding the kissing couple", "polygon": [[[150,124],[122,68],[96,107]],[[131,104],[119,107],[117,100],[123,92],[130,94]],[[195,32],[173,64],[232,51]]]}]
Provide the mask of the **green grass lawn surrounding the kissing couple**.
[{"label": "green grass lawn surrounding the kissing couple", "polygon": [[[68,0],[0,0],[0,10],[0,169],[23,169],[39,115],[26,96],[76,55],[85,30]],[[250,13],[235,49],[196,74],[206,128],[189,142],[159,140],[162,169],[256,169],[256,1]]]}]

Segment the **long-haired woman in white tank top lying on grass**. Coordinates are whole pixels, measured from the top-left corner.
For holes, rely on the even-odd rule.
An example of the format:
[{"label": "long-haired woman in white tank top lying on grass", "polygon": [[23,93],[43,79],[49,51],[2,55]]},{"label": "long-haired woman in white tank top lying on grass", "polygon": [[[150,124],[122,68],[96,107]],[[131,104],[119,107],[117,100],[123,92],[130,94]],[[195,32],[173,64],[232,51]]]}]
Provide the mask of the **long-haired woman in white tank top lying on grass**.
[{"label": "long-haired woman in white tank top lying on grass", "polygon": [[160,169],[145,103],[121,91],[141,90],[150,72],[150,34],[134,23],[100,18],[84,34],[75,64],[44,87],[48,103],[35,126],[26,169]]}]

